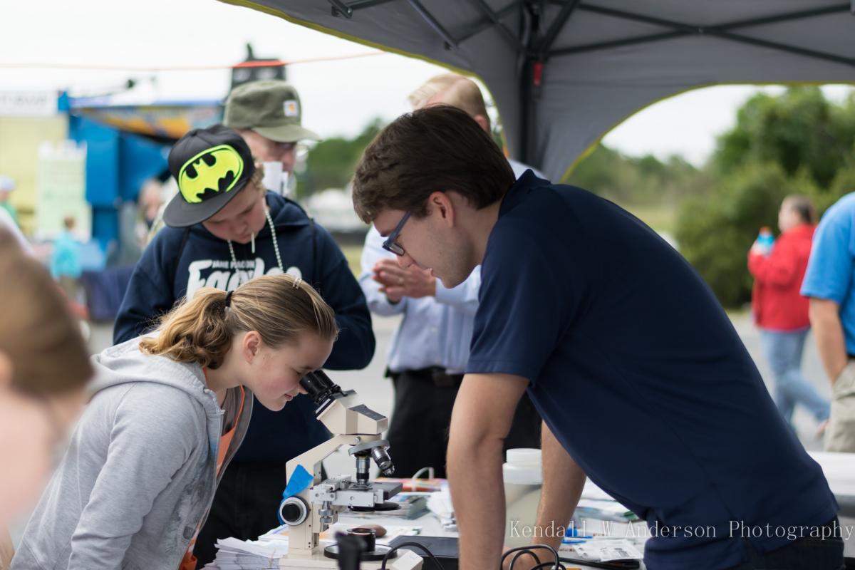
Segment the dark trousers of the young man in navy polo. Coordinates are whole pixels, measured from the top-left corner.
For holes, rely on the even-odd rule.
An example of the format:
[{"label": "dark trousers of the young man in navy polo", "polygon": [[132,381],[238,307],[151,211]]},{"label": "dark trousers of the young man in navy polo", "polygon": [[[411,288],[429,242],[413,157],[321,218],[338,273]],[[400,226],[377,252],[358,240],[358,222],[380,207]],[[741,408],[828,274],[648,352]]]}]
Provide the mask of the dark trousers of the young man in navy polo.
[{"label": "dark trousers of the young man in navy polo", "polygon": [[746,540],[748,561],[729,570],[845,570],[840,523],[834,518],[822,528],[831,531],[836,528],[837,535],[830,536],[828,532],[828,538],[799,538],[765,553],[758,552]]}]

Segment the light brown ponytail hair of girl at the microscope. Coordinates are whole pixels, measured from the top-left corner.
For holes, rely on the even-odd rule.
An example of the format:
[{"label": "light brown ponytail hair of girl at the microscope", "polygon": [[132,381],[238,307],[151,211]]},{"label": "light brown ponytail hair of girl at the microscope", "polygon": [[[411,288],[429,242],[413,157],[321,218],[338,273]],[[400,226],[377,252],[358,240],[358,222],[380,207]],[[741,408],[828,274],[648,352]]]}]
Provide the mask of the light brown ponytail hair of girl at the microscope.
[{"label": "light brown ponytail hair of girl at the microscope", "polygon": [[162,317],[157,336],[141,340],[139,349],[218,368],[239,332],[257,331],[272,348],[297,342],[303,332],[330,340],[339,333],[333,309],[291,275],[251,279],[231,292],[228,307],[226,299],[226,291],[212,287],[196,291]]}]

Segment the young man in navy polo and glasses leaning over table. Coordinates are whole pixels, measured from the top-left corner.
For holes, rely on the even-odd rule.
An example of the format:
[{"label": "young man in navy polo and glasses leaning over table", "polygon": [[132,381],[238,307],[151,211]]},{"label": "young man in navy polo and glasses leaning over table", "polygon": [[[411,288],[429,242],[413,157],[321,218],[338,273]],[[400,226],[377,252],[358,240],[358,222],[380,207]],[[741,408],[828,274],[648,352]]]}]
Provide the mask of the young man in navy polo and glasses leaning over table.
[{"label": "young man in navy polo and glasses leaning over table", "polygon": [[481,264],[448,449],[461,567],[498,565],[502,440],[523,391],[544,418],[535,536],[567,525],[587,473],[651,526],[650,570],[842,567],[820,467],[709,287],[632,214],[531,172],[515,182],[450,107],[387,126],[353,201],[404,267],[453,287]]}]

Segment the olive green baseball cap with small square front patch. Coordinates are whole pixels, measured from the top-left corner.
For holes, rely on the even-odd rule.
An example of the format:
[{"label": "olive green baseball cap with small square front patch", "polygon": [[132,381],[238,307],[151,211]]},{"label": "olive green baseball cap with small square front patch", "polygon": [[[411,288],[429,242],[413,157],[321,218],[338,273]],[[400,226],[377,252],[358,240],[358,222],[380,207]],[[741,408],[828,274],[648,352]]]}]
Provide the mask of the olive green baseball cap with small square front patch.
[{"label": "olive green baseball cap with small square front patch", "polygon": [[251,129],[278,143],[296,143],[317,133],[301,124],[303,108],[297,90],[286,81],[251,81],[235,87],[226,99],[225,126]]}]

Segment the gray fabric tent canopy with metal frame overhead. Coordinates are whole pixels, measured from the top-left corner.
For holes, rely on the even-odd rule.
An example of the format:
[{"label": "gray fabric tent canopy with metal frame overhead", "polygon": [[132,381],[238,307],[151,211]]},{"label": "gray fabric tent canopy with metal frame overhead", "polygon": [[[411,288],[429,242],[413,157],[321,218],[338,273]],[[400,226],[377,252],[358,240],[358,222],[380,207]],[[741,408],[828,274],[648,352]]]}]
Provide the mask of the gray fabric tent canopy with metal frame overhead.
[{"label": "gray fabric tent canopy with metal frame overhead", "polygon": [[855,0],[223,1],[474,73],[510,155],[554,180],[682,91],[855,82]]}]

